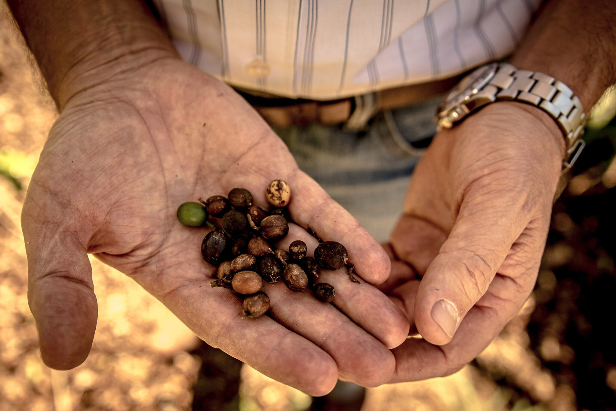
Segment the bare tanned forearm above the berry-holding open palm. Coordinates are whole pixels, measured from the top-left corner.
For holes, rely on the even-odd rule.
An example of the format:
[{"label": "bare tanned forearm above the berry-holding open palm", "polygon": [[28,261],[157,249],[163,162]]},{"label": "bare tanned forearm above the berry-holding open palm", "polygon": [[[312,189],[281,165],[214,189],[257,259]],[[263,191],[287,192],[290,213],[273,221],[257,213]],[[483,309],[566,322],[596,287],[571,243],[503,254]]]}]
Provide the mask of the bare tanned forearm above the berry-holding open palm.
[{"label": "bare tanned forearm above the berry-holding open palm", "polygon": [[7,0],[61,111],[79,91],[176,56],[141,0]]}]

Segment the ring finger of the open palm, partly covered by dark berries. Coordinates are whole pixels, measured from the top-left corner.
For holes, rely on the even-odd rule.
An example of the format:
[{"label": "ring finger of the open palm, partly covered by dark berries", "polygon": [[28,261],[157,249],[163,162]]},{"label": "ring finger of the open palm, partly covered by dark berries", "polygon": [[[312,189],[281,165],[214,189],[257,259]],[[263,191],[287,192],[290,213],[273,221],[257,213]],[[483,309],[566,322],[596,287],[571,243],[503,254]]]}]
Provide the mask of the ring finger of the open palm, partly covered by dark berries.
[{"label": "ring finger of the open palm, partly covered by dark berries", "polygon": [[[278,247],[288,250],[294,240],[306,243],[307,255],[314,255],[317,240],[296,224],[291,224],[289,235],[278,243]],[[336,271],[319,270],[318,282],[334,286],[336,298],[332,304],[344,312],[355,324],[362,327],[387,348],[398,346],[408,335],[408,320],[398,307],[381,291],[362,281],[354,283],[349,279],[346,267]],[[310,298],[313,298],[310,296]],[[328,305],[318,302],[321,305]]]}]

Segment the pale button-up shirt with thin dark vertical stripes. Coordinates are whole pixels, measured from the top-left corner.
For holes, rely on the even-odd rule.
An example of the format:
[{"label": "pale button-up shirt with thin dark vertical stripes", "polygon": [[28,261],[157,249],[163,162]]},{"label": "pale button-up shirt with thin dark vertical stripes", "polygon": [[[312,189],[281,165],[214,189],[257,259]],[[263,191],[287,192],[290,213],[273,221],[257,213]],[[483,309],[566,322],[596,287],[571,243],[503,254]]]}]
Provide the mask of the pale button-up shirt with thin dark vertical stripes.
[{"label": "pale button-up shirt with thin dark vertical stripes", "polygon": [[331,100],[504,57],[541,0],[153,0],[183,59],[233,86]]}]

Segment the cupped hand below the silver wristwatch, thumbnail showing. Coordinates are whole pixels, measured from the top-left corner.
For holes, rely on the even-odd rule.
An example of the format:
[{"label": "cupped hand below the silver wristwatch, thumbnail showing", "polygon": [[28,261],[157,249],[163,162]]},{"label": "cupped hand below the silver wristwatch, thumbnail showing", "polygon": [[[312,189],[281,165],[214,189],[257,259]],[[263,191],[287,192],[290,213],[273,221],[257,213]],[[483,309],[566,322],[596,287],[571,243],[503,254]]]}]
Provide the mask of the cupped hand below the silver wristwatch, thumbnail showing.
[{"label": "cupped hand below the silver wristwatch, thumbnail showing", "polygon": [[[491,104],[437,134],[411,179],[381,285],[421,338],[393,350],[391,382],[456,372],[533,289],[564,155],[537,108]],[[415,328],[413,327],[413,328]]]}]

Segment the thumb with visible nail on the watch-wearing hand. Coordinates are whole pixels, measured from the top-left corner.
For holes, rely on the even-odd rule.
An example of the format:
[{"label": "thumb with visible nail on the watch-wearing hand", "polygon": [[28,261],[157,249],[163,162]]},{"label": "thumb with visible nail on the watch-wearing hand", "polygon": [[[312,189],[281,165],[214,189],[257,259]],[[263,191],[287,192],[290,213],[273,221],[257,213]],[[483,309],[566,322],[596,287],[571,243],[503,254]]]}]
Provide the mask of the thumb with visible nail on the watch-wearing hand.
[{"label": "thumb with visible nail on the watch-wearing hand", "polygon": [[474,196],[463,201],[449,237],[419,284],[415,325],[432,344],[452,340],[524,229],[524,201],[511,195],[488,197],[498,200]]}]

